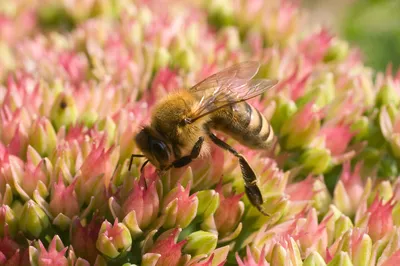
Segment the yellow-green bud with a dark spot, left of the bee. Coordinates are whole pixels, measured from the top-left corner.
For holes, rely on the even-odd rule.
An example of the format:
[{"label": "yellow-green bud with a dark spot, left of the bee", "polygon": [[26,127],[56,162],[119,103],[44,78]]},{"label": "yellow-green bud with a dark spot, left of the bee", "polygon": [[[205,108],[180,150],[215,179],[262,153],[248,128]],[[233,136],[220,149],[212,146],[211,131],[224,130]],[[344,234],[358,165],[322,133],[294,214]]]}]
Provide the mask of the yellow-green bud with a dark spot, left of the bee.
[{"label": "yellow-green bud with a dark spot, left of the bee", "polygon": [[74,98],[65,93],[60,93],[50,111],[50,119],[55,128],[58,130],[61,126],[69,127],[75,124],[77,118],[78,109]]}]

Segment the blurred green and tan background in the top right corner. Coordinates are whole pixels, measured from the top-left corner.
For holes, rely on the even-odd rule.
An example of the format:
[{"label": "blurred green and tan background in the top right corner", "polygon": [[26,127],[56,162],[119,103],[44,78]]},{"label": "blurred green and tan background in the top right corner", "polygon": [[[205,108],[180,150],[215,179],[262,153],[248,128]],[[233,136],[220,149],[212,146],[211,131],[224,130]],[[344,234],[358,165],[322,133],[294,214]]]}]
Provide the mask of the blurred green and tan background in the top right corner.
[{"label": "blurred green and tan background in the top right corner", "polygon": [[302,0],[309,22],[322,23],[360,47],[365,63],[400,66],[400,0]]}]

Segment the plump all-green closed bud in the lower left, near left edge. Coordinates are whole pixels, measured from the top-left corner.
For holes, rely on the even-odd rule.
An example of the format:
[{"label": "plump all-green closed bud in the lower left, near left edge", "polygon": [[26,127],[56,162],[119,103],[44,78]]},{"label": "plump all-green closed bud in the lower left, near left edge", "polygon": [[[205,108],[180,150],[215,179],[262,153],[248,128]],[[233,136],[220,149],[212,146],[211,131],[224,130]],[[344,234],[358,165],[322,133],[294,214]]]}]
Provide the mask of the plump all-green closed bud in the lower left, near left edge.
[{"label": "plump all-green closed bud in the lower left, near left edge", "polygon": [[49,225],[49,218],[39,205],[33,200],[27,201],[19,218],[19,228],[23,232],[39,238]]}]

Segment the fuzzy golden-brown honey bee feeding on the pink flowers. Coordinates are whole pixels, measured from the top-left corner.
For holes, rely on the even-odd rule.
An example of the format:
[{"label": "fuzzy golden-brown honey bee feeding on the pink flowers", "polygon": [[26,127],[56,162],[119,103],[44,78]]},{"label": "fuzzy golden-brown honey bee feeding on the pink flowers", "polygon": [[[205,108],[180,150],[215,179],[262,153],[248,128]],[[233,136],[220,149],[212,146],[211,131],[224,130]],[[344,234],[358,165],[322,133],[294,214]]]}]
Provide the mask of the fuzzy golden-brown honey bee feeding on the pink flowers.
[{"label": "fuzzy golden-brown honey bee feeding on the pink flowers", "polygon": [[[268,149],[274,133],[267,119],[246,101],[261,95],[277,81],[253,79],[258,62],[243,62],[209,76],[190,89],[161,99],[154,107],[151,123],[135,137],[143,154],[159,171],[188,165],[208,152],[208,141],[239,159],[249,201],[263,214],[263,198],[257,176],[246,158],[219,139],[221,131],[251,149]],[[142,167],[143,167],[142,166]]]}]

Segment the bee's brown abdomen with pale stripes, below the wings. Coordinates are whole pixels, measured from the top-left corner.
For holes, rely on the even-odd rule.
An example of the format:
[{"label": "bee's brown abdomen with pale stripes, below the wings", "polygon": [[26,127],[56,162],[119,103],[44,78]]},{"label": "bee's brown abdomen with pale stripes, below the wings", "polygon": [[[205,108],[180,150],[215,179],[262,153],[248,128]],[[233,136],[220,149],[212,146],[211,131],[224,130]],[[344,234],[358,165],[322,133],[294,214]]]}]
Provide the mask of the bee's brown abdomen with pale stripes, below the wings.
[{"label": "bee's brown abdomen with pale stripes, below the wings", "polygon": [[212,115],[209,126],[252,149],[269,148],[274,137],[272,127],[264,115],[247,102],[218,110]]}]

